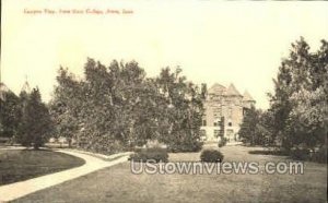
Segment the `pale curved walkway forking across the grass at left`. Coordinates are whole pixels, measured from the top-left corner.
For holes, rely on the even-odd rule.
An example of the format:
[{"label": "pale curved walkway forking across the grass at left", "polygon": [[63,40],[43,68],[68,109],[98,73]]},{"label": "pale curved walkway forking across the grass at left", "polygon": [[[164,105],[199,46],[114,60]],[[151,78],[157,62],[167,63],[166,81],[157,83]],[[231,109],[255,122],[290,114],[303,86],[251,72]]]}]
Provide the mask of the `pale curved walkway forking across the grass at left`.
[{"label": "pale curved walkway forking across the grass at left", "polygon": [[[34,179],[30,179],[30,180],[25,180],[25,181],[21,181],[21,182],[14,182],[11,184],[2,186],[2,187],[0,187],[0,202],[12,201],[12,200],[22,198],[24,195],[27,195],[30,193],[36,192],[38,190],[43,190],[43,189],[46,189],[46,188],[49,188],[49,187],[52,187],[56,184],[60,184],[62,182],[72,180],[74,178],[79,178],[81,176],[87,175],[95,170],[110,167],[116,164],[128,160],[127,153],[122,153],[121,154],[122,157],[120,157],[120,158],[114,159],[112,162],[105,162],[105,160],[102,160],[99,158],[96,158],[94,156],[83,154],[83,153],[78,153],[78,152],[72,152],[72,151],[57,151],[57,152],[61,152],[61,153],[66,153],[66,154],[72,155],[72,156],[80,157],[85,160],[85,164],[80,167],[77,167],[77,168],[55,172],[51,175],[42,176],[38,178],[34,178]],[[118,156],[120,156],[120,154],[113,155],[113,156],[118,157]]]}]

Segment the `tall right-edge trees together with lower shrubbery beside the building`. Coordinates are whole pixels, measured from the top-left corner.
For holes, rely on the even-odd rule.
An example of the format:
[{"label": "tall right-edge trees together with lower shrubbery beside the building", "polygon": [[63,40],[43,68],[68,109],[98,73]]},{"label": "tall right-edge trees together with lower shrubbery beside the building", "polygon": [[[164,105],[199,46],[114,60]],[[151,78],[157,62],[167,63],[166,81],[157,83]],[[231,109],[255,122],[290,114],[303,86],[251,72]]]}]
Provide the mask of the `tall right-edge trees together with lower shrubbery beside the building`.
[{"label": "tall right-edge trees together with lower shrubbery beside the building", "polygon": [[[274,82],[267,111],[250,109],[241,126],[241,138],[250,144],[280,144],[293,157],[305,158],[307,151],[327,145],[328,129],[328,43],[316,52],[307,43],[292,44]],[[293,148],[303,148],[295,151]]]}]

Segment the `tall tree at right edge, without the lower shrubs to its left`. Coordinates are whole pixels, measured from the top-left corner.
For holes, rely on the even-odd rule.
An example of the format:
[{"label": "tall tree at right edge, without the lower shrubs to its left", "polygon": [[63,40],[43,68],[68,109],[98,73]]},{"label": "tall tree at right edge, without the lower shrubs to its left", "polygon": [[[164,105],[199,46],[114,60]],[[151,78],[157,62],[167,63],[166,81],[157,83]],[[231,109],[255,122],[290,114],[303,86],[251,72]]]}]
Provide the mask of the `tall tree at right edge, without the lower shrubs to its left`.
[{"label": "tall tree at right edge, without the lower shrubs to its left", "polygon": [[272,134],[285,150],[305,145],[307,148],[327,144],[328,129],[328,43],[321,41],[316,52],[301,40],[292,44],[283,59],[270,95]]}]

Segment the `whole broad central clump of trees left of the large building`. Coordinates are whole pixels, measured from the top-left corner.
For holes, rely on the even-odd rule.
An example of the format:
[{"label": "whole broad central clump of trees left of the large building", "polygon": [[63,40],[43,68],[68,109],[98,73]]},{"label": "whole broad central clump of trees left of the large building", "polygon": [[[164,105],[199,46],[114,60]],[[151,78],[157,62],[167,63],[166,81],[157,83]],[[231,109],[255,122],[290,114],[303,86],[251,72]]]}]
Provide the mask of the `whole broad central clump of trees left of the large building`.
[{"label": "whole broad central clump of trees left of the large building", "polygon": [[77,80],[61,68],[50,103],[57,133],[103,153],[113,153],[114,144],[133,147],[148,140],[196,151],[204,87],[187,82],[180,72],[166,68],[160,76],[147,77],[136,61],[105,67],[87,59],[84,80]]}]

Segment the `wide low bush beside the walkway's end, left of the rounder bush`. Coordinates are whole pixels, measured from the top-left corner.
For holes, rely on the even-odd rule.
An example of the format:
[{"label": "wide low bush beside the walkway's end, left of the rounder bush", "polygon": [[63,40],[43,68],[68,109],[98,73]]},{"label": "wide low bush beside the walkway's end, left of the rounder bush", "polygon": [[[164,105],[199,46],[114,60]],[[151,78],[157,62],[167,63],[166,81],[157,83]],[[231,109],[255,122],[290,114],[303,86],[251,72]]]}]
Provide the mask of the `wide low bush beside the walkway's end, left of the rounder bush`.
[{"label": "wide low bush beside the walkway's end, left of the rounder bush", "polygon": [[134,162],[147,162],[154,160],[159,162],[167,162],[168,154],[166,148],[153,147],[153,148],[139,148],[134,154],[130,155],[129,160]]}]

